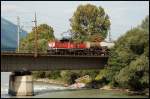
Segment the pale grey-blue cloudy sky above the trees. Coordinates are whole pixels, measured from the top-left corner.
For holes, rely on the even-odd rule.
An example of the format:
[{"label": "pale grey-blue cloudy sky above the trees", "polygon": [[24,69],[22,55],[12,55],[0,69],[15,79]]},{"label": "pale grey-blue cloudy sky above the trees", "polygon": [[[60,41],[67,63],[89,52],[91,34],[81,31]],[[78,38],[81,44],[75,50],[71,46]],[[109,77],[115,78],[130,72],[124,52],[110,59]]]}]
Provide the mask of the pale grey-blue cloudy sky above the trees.
[{"label": "pale grey-blue cloudy sky above the trees", "polygon": [[1,1],[1,17],[30,32],[37,14],[37,24],[46,23],[53,27],[56,38],[71,29],[69,19],[79,5],[87,3],[101,6],[111,20],[111,38],[118,39],[129,29],[141,24],[149,15],[149,1]]}]

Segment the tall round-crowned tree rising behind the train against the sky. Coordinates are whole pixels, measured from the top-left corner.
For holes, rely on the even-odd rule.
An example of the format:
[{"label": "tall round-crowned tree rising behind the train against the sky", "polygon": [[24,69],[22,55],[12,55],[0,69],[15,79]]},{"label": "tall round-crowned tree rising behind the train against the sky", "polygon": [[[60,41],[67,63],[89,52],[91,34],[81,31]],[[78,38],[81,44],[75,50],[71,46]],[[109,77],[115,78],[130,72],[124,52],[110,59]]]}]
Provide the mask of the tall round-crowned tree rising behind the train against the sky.
[{"label": "tall round-crowned tree rising behind the train against the sky", "polygon": [[100,42],[106,38],[110,29],[109,16],[101,6],[80,5],[70,21],[73,40],[75,41]]}]

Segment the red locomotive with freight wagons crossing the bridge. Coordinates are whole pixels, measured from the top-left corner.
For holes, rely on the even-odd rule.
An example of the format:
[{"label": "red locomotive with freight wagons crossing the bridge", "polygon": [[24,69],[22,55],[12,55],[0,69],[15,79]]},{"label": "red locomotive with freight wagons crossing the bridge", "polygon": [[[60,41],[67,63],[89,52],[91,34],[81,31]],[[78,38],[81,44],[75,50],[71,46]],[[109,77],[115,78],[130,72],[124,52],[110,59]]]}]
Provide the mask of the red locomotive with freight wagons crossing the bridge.
[{"label": "red locomotive with freight wagons crossing the bridge", "polygon": [[51,55],[107,56],[109,49],[100,42],[73,42],[68,39],[48,42],[47,52]]}]

